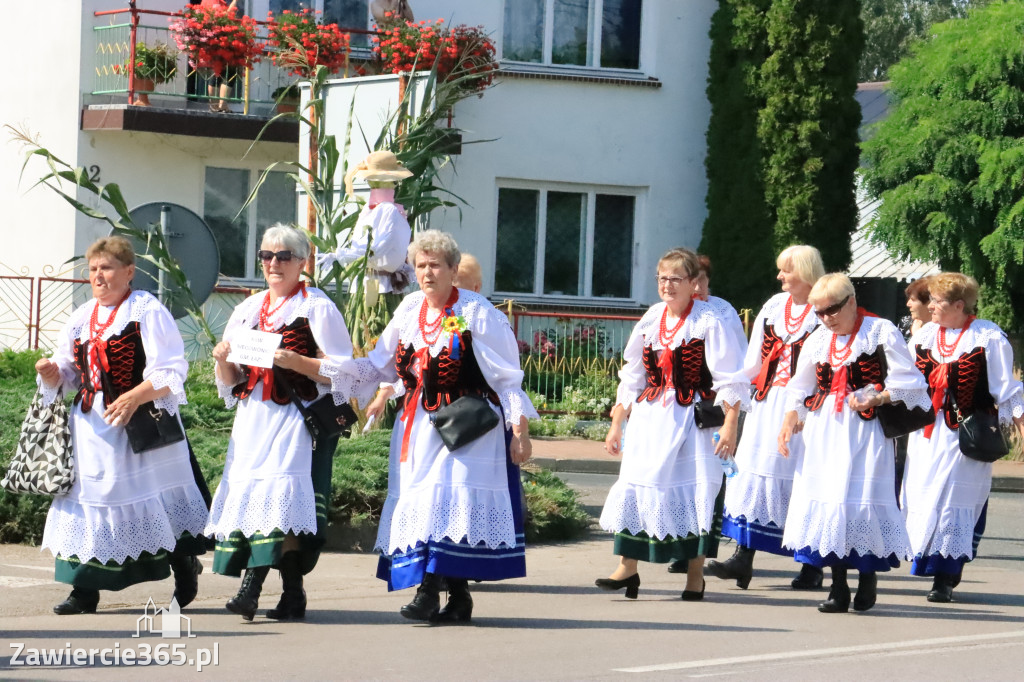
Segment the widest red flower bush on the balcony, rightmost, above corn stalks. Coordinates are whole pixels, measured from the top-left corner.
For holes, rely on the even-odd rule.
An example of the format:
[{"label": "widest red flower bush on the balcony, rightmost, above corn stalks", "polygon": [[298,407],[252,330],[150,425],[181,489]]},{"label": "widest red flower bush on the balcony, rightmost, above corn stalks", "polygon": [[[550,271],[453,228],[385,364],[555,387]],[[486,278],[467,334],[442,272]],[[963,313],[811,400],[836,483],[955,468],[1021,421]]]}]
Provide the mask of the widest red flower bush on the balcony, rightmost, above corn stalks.
[{"label": "widest red flower bush on the balcony, rightmost, above corn stalks", "polygon": [[385,16],[379,35],[373,38],[374,52],[383,71],[430,71],[436,63],[441,82],[455,82],[469,92],[490,85],[498,62],[494,43],[483,27],[460,25],[447,29],[444,19],[414,24],[396,19],[390,12]]}]

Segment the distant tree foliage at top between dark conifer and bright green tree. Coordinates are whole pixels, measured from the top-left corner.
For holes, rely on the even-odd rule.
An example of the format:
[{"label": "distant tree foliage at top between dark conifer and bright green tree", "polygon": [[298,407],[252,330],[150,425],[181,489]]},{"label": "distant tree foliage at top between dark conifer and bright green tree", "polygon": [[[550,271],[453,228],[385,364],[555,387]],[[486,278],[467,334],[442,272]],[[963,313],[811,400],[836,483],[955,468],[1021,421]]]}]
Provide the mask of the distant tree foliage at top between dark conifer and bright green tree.
[{"label": "distant tree foliage at top between dark conifer and bright green tree", "polygon": [[928,37],[933,24],[967,16],[972,7],[989,0],[861,0],[864,53],[860,81],[885,81],[889,68],[910,53],[916,40]]}]

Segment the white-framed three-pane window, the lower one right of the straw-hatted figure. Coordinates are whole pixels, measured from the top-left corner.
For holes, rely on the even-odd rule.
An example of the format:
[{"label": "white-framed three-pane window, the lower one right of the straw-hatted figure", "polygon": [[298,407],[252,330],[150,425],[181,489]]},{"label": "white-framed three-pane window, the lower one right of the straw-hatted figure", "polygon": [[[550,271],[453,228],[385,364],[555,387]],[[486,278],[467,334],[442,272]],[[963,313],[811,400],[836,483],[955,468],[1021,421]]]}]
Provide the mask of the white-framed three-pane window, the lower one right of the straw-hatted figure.
[{"label": "white-framed three-pane window, the lower one right of the straw-hatted figure", "polygon": [[631,298],[635,194],[498,189],[495,290]]}]

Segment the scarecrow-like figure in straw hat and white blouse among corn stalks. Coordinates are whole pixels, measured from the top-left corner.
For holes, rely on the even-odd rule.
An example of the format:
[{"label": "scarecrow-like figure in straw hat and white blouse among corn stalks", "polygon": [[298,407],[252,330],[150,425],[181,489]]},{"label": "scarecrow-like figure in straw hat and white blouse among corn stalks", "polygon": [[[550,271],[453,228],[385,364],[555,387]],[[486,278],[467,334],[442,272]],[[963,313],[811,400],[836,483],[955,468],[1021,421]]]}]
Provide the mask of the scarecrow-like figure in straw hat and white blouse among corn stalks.
[{"label": "scarecrow-like figure in straw hat and white blouse among corn stalks", "polygon": [[[378,297],[383,294],[386,313],[394,311],[414,276],[413,268],[406,261],[413,230],[404,207],[394,201],[395,185],[412,176],[413,173],[391,152],[374,152],[360,161],[345,175],[345,193],[354,197],[353,181],[360,179],[370,185],[370,199],[359,212],[352,231],[339,236],[338,248],[317,258],[323,269],[330,268],[333,263],[344,268],[366,257],[366,306],[375,307]],[[372,333],[377,331],[371,330]]]}]

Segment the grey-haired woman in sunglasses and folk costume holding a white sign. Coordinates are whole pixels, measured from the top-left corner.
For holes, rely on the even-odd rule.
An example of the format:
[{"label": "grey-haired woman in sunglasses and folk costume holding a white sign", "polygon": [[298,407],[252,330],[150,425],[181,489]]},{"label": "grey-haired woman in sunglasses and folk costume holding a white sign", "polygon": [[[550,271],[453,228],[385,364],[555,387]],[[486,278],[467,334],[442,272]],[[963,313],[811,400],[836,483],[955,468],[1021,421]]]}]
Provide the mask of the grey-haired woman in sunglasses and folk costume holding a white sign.
[{"label": "grey-haired woman in sunglasses and folk costume holding a white sign", "polygon": [[[352,355],[345,321],[324,292],[300,281],[309,253],[302,230],[267,229],[257,253],[267,290],[234,308],[213,349],[217,388],[237,412],[206,535],[217,541],[214,571],[245,571],[226,606],[247,621],[271,566],[281,570],[284,592],[267,617],[305,616],[303,576],[316,565],[326,539],[338,439],[319,439],[314,447],[294,400],[308,406],[330,395],[325,399],[341,404],[351,392],[351,379],[339,371]],[[271,369],[228,357],[231,344],[252,331],[282,335]]]}]

